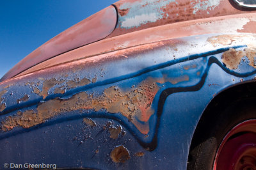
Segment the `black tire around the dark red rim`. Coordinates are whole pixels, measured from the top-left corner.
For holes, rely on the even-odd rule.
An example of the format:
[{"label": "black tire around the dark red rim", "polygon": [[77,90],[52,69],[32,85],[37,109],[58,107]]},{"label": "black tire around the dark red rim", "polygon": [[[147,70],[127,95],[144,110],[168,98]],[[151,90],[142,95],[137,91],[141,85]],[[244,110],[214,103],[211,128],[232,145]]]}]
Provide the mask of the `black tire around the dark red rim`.
[{"label": "black tire around the dark red rim", "polygon": [[246,98],[231,105],[211,107],[202,116],[189,150],[188,170],[212,169],[216,152],[225,135],[237,124],[256,119],[256,98]]}]

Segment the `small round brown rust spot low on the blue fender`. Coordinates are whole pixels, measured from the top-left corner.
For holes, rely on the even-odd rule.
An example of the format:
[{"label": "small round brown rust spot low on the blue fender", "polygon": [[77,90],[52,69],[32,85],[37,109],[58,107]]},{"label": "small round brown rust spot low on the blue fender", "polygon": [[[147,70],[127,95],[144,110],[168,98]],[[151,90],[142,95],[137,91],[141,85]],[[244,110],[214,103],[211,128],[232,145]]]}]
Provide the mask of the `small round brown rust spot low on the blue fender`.
[{"label": "small round brown rust spot low on the blue fender", "polygon": [[126,160],[129,160],[130,153],[123,145],[116,146],[110,153],[110,157],[115,163],[125,163]]}]

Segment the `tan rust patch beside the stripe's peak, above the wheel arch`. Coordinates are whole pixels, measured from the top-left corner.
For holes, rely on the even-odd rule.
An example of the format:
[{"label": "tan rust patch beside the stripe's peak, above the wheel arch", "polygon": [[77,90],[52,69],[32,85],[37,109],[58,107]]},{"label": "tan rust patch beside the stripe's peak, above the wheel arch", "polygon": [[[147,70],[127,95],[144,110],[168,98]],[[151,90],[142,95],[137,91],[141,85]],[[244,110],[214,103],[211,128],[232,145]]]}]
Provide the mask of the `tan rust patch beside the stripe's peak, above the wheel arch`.
[{"label": "tan rust patch beside the stripe's peak, above the wheel arch", "polygon": [[240,63],[241,58],[243,58],[244,56],[246,56],[250,60],[249,65],[256,68],[256,66],[254,65],[254,57],[256,57],[256,50],[236,50],[231,48],[223,52],[221,59],[222,62],[225,63],[227,68],[229,68],[230,70],[234,70],[237,69],[237,66]]}]

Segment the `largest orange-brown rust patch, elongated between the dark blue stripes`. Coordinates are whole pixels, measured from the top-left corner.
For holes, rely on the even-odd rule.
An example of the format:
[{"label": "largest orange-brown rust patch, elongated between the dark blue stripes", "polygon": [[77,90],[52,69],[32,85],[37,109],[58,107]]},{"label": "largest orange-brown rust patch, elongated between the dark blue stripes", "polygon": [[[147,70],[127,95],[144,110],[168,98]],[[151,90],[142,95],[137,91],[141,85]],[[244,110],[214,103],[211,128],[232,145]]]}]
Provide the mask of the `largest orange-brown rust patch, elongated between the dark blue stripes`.
[{"label": "largest orange-brown rust patch, elongated between the dark blue stripes", "polygon": [[[55,83],[52,83],[50,85],[54,86],[54,84]],[[141,82],[137,88],[132,88],[129,91],[123,91],[117,86],[111,86],[105,89],[104,93],[99,97],[81,92],[68,99],[54,98],[40,103],[36,109],[36,120],[29,122],[28,126],[23,126],[28,123],[28,121],[24,121],[22,118],[24,116],[26,117],[27,112],[19,116],[8,116],[6,121],[1,121],[1,123],[6,127],[19,127],[20,125],[22,125],[22,127],[32,127],[62,112],[77,111],[79,109],[93,109],[94,111],[106,109],[106,111],[110,113],[120,113],[124,115],[134,123],[142,134],[148,134],[149,124],[147,121],[150,116],[154,114],[151,105],[158,89],[159,87],[156,82],[154,82],[154,79],[148,78]],[[17,121],[10,121],[13,119]],[[141,123],[141,121],[143,121],[143,123]],[[11,130],[12,128],[2,129]]]}]

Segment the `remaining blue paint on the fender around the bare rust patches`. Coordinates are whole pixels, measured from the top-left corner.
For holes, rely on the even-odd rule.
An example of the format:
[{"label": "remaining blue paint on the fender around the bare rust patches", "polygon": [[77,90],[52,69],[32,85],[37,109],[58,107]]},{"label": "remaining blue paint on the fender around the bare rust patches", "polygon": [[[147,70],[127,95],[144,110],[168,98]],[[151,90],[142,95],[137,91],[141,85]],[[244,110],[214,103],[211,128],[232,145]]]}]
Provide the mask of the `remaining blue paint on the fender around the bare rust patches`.
[{"label": "remaining blue paint on the fender around the bare rust patches", "polygon": [[[28,129],[17,127],[8,132],[0,132],[0,149],[4,153],[0,155],[0,164],[8,161],[24,164],[24,161],[27,161],[52,163],[57,164],[58,167],[96,169],[186,169],[193,132],[213,95],[228,86],[239,83],[241,78],[244,81],[254,79],[256,73],[255,68],[248,65],[246,57],[243,58],[244,60],[241,59],[236,70],[229,70],[221,62],[223,52],[230,47],[243,50],[246,44],[228,45],[223,48],[212,47],[211,44],[205,45],[207,38],[211,36],[180,38],[186,43],[176,45],[178,51],[173,50],[174,45],[170,45],[172,47],[159,47],[159,49],[132,54],[127,59],[102,63],[99,68],[84,66],[76,73],[72,73],[71,69],[64,69],[62,75],[58,72],[49,72],[45,79],[55,77],[58,80],[68,81],[76,77],[92,79],[95,76],[98,79],[95,83],[68,89],[64,95],[54,94],[53,90],[50,90],[49,96],[44,100],[38,95],[33,95],[31,87],[24,86],[24,81],[17,80],[16,84],[7,88],[8,93],[3,95],[8,108],[2,112],[1,120],[6,116],[15,115],[17,110],[36,109],[40,101],[56,97],[68,98],[81,91],[100,95],[104,89],[111,86],[131,89],[132,85],[138,86],[148,77],[153,79],[164,77],[166,82],[157,82],[159,91],[152,102],[155,112],[149,120],[148,136],[141,134],[133,123],[127,121],[127,118],[120,113],[111,114],[104,109],[98,112],[92,109],[63,112],[35,127]],[[191,44],[196,44],[196,47],[191,47]],[[185,69],[186,66],[192,65],[196,66]],[[101,68],[104,68],[102,76],[100,76]],[[67,73],[69,76],[64,77],[63,75]],[[183,75],[188,75],[189,81],[179,81],[176,84],[168,81]],[[42,88],[42,79],[28,76],[26,81],[40,82],[38,87]],[[54,88],[63,84],[56,85]],[[216,85],[209,86],[210,84]],[[13,97],[10,97],[12,92]],[[31,96],[29,101],[17,104],[17,98],[22,97],[24,93]],[[161,98],[163,94],[166,94],[165,101],[162,101],[163,96]],[[196,100],[191,100],[192,98]],[[95,120],[97,127],[84,128],[82,123],[84,117]],[[102,131],[107,120],[113,121],[115,125],[122,125],[127,134],[118,140],[110,139],[108,132]],[[84,140],[87,135],[90,137]],[[82,144],[81,141],[83,141]],[[131,159],[125,164],[115,164],[109,158],[111,150],[119,144],[123,144],[131,152]],[[100,148],[100,152],[95,154],[97,148]],[[135,157],[134,154],[137,151],[144,151],[145,156]]]}]

